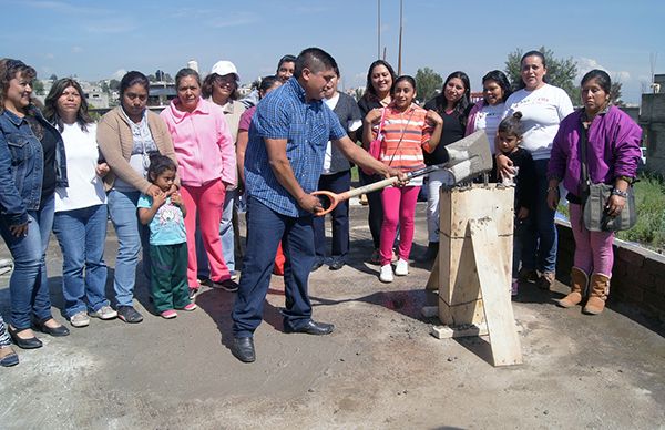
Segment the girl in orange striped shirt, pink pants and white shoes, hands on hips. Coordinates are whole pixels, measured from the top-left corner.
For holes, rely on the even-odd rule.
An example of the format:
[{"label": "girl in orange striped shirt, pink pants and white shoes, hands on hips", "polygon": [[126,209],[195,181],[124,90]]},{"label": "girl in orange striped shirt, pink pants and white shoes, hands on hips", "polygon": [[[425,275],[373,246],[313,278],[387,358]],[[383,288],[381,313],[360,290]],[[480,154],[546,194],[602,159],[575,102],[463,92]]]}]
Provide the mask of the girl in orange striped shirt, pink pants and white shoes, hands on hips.
[{"label": "girl in orange striped shirt, pink pants and white shoes, hands on hips", "polygon": [[[365,117],[365,140],[370,142],[382,135],[380,160],[389,166],[409,172],[424,167],[422,149],[434,151],[441,139],[443,120],[434,111],[426,111],[413,103],[416,81],[411,76],[399,76],[395,81],[392,102],[383,109],[372,109]],[[380,130],[379,130],[380,129]],[[379,279],[391,283],[392,243],[399,223],[399,248],[395,274],[409,273],[409,254],[413,242],[413,216],[422,181],[412,180],[407,186],[383,188],[383,224],[380,238],[381,272]]]}]

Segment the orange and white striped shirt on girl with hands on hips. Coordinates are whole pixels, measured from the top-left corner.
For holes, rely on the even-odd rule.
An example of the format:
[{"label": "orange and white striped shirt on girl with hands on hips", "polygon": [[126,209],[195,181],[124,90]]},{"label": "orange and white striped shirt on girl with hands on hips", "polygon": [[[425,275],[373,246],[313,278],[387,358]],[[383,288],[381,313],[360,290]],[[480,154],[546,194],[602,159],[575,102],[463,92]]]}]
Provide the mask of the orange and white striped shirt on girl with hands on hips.
[{"label": "orange and white striped shirt on girl with hands on hips", "polygon": [[[386,117],[379,160],[403,172],[424,167],[422,150],[431,152],[429,140],[432,132],[426,121],[427,111],[416,104],[406,112],[399,112],[392,105],[383,110]],[[375,135],[378,129],[379,125],[374,126]]]}]

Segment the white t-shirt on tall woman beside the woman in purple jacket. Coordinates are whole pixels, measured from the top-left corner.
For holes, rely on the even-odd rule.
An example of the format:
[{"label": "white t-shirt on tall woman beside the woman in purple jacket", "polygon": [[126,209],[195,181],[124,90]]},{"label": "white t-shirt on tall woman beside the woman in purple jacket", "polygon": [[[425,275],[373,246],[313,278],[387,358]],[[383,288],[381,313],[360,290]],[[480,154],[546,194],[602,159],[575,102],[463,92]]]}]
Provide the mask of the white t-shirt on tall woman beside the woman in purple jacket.
[{"label": "white t-shirt on tall woman beside the woman in purple jacket", "polygon": [[559,123],[573,112],[573,103],[565,91],[550,84],[534,91],[515,91],[505,101],[505,106],[503,117],[522,112],[524,135],[521,146],[533,160],[550,158]]}]

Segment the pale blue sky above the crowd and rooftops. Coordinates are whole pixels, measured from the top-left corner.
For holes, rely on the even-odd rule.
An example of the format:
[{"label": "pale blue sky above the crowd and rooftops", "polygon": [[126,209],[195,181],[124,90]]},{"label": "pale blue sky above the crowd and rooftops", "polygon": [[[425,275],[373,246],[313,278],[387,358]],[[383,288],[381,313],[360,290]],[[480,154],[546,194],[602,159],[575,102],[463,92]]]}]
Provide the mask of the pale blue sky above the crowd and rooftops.
[{"label": "pale blue sky above the crowd and rooftops", "polygon": [[[207,72],[233,61],[243,82],[274,73],[285,53],[320,47],[339,63],[342,85],[364,85],[377,58],[376,0],[0,0],[0,55],[51,73],[111,78],[126,70],[174,75],[191,59]],[[665,1],[403,0],[402,71],[429,66],[446,76],[466,71],[472,90],[503,69],[516,48],[545,45],[572,57],[581,72],[601,68],[638,103],[656,73],[665,73]],[[381,0],[381,44],[397,69],[399,0]]]}]

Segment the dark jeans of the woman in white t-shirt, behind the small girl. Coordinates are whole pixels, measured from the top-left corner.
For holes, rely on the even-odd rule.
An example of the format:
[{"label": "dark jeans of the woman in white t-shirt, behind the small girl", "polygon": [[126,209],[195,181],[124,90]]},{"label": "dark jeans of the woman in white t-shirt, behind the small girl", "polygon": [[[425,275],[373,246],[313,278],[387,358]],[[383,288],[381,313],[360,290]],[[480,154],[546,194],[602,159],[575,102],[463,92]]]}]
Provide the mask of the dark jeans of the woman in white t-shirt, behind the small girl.
[{"label": "dark jeans of the woman in white t-shirt, behind the small girl", "polygon": [[531,226],[524,235],[522,267],[554,273],[556,269],[556,227],[554,214],[548,206],[548,162],[535,160],[535,202]]}]

